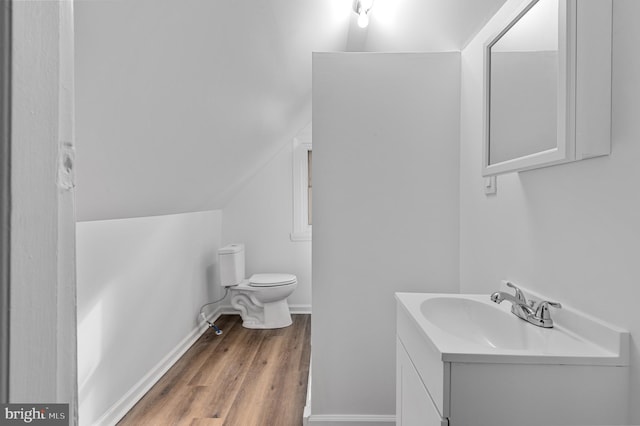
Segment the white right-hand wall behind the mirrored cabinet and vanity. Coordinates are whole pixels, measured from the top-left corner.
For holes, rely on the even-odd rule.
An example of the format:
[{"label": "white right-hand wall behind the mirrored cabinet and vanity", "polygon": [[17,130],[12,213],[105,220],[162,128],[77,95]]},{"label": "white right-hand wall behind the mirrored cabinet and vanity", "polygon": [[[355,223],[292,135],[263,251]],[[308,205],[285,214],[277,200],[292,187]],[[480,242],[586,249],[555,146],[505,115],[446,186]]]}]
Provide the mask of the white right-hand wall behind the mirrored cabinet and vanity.
[{"label": "white right-hand wall behind the mirrored cabinet and vanity", "polygon": [[[500,14],[519,0],[509,0]],[[629,329],[631,423],[640,423],[640,2],[614,0],[612,153],[498,177],[483,194],[482,43],[462,53],[460,280],[489,293],[510,279]]]}]

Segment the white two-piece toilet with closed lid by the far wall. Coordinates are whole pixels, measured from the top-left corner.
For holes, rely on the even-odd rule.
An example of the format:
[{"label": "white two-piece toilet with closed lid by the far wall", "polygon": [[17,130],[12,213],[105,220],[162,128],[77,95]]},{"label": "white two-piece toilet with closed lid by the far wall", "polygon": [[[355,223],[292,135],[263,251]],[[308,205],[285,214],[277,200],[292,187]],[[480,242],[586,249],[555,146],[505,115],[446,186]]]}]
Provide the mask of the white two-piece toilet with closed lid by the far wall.
[{"label": "white two-piece toilet with closed lid by the far wall", "polygon": [[298,286],[292,274],[244,274],[244,245],[230,244],[218,250],[220,284],[229,288],[231,306],[240,311],[246,328],[283,328],[291,325],[287,297]]}]

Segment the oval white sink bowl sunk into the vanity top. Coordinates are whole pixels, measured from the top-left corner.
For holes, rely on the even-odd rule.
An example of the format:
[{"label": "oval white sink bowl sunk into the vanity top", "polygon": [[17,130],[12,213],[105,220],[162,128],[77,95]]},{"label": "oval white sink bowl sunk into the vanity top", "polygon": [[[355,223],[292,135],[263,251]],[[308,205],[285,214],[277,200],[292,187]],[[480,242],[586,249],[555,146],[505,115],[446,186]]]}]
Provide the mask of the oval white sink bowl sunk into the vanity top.
[{"label": "oval white sink bowl sunk into the vanity top", "polygon": [[458,338],[492,348],[525,349],[541,343],[536,333],[528,333],[529,330],[524,328],[531,325],[510,312],[478,300],[454,297],[427,299],[420,305],[420,312],[436,327]]}]

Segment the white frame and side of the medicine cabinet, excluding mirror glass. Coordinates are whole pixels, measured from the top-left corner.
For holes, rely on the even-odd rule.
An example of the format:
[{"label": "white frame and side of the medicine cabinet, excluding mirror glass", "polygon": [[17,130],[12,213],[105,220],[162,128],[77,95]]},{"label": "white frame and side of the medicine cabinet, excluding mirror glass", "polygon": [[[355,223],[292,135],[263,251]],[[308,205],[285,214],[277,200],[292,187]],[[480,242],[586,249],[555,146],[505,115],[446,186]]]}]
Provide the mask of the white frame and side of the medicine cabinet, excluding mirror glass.
[{"label": "white frame and side of the medicine cabinet, excluding mirror glass", "polygon": [[611,152],[612,1],[560,0],[558,10],[558,128],[552,149],[489,164],[491,47],[539,0],[525,0],[484,45],[482,175],[495,176]]}]

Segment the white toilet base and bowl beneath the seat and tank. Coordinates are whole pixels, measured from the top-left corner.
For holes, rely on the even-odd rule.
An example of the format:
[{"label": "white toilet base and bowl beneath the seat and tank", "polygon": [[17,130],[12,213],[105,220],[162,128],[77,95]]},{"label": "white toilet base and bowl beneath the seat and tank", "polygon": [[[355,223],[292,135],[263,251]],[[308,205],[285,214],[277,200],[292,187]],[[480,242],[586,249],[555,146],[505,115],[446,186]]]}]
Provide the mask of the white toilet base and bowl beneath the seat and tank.
[{"label": "white toilet base and bowl beneath the seat and tank", "polygon": [[231,292],[231,306],[240,311],[242,326],[245,328],[284,328],[293,323],[287,299],[261,303],[250,293],[234,289]]}]

